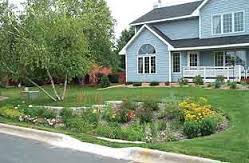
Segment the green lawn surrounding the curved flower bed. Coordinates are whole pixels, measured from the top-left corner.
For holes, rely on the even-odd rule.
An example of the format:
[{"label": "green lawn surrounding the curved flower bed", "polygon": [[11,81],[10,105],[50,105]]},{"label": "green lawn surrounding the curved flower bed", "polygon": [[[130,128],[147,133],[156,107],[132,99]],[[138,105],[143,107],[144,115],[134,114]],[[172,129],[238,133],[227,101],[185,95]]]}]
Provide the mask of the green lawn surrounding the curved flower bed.
[{"label": "green lawn surrounding the curved flower bed", "polygon": [[[9,100],[0,104],[20,103],[23,101],[20,99],[20,91],[21,90],[15,88],[0,89],[2,95],[10,97]],[[64,102],[56,103],[48,100],[45,96],[41,96],[39,100],[29,103],[32,103],[33,105],[82,106],[95,103],[100,104],[105,100],[122,100],[124,98],[129,98],[144,101],[152,99],[160,100],[170,96],[206,97],[213,106],[228,114],[231,119],[229,129],[209,137],[172,143],[146,144],[142,145],[142,147],[235,163],[249,162],[249,91],[206,90],[201,88],[116,88],[97,91],[95,88],[71,87]],[[67,134],[91,143],[112,147],[128,146],[99,141],[85,134]]]}]

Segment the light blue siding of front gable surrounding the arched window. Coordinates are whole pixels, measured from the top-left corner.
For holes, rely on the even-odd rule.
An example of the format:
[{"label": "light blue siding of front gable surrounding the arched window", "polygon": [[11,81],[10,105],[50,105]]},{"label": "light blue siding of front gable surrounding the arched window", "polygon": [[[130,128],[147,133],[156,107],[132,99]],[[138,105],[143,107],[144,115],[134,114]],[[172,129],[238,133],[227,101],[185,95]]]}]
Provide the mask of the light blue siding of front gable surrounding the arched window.
[{"label": "light blue siding of front gable surrounding the arched window", "polygon": [[[156,49],[156,74],[138,74],[138,50],[144,44],[151,44]],[[127,81],[128,82],[167,82],[169,81],[168,47],[150,31],[145,29],[127,48]]]}]

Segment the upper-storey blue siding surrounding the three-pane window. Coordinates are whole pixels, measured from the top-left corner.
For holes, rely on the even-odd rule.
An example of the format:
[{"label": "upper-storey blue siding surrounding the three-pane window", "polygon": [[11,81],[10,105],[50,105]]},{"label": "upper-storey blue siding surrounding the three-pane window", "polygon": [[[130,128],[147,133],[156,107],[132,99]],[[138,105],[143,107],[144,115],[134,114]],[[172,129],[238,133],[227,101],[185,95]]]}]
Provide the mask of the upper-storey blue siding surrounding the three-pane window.
[{"label": "upper-storey blue siding surrounding the three-pane window", "polygon": [[[245,32],[237,34],[212,35],[212,15],[245,11]],[[249,34],[249,0],[210,0],[200,12],[201,38]]]}]

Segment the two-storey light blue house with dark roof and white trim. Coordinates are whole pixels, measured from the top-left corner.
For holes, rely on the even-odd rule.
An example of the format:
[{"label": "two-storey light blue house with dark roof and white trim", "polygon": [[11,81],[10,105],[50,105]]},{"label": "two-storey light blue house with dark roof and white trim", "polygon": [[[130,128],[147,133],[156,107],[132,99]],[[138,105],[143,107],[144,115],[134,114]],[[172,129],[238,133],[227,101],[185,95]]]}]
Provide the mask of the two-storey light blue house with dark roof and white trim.
[{"label": "two-storey light blue house with dark roof and white trim", "polygon": [[120,52],[127,82],[247,78],[249,0],[158,5],[131,25],[136,34]]}]

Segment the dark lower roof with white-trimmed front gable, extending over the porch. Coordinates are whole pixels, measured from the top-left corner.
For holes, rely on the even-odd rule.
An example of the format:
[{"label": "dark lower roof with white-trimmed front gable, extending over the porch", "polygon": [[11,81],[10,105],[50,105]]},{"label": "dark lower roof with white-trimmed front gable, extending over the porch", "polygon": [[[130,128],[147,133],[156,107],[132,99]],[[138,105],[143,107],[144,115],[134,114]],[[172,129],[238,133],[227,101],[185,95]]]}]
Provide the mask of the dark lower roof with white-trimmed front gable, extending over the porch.
[{"label": "dark lower roof with white-trimmed front gable, extending over the porch", "polygon": [[139,36],[144,30],[148,29],[157,38],[169,47],[169,51],[181,50],[202,50],[202,49],[217,49],[217,48],[232,48],[232,47],[249,47],[249,35],[240,36],[225,36],[216,38],[190,38],[171,40],[168,36],[162,33],[158,28],[153,25],[143,25],[143,27],[136,33],[135,36],[125,45],[120,51],[120,55],[126,54],[127,47]]}]

